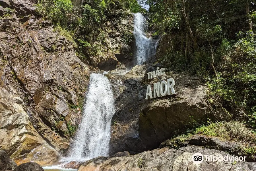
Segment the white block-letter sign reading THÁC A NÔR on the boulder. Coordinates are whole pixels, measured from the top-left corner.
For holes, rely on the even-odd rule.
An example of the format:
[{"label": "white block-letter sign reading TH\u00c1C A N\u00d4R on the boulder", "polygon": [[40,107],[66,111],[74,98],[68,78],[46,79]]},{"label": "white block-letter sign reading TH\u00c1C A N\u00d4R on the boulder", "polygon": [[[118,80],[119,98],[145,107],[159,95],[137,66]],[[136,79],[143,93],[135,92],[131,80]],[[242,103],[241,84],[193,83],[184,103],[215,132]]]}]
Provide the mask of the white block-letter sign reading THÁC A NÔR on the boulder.
[{"label": "white block-letter sign reading TH\u00c1C A N\u00d4R on the boulder", "polygon": [[166,96],[166,95],[176,94],[176,92],[174,90],[175,81],[173,78],[169,78],[166,81],[166,78],[164,77],[164,74],[165,74],[164,70],[165,70],[165,68],[161,68],[159,70],[159,67],[158,67],[156,71],[147,73],[148,80],[153,79],[153,78],[158,78],[160,80],[160,78],[159,78],[160,76],[162,76],[162,79],[160,80],[161,82],[154,83],[153,92],[151,89],[151,85],[148,84],[147,91],[146,91],[146,100],[148,98],[152,99],[152,98],[156,98],[156,97],[162,97],[162,96]]}]

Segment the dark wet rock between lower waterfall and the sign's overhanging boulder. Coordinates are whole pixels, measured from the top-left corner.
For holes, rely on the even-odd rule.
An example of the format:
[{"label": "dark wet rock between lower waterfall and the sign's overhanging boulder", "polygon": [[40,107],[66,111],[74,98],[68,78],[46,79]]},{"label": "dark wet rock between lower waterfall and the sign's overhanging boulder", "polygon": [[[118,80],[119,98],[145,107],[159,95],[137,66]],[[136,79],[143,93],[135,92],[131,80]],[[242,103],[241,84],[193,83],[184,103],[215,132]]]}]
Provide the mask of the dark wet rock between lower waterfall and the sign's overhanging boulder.
[{"label": "dark wet rock between lower waterfall and the sign's overhanging boulder", "polygon": [[[115,115],[112,118],[110,155],[119,151],[142,152],[147,150],[138,133],[138,118],[143,103],[144,87],[136,75],[106,75],[115,96]],[[142,97],[142,98],[141,98]]]}]

